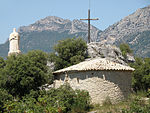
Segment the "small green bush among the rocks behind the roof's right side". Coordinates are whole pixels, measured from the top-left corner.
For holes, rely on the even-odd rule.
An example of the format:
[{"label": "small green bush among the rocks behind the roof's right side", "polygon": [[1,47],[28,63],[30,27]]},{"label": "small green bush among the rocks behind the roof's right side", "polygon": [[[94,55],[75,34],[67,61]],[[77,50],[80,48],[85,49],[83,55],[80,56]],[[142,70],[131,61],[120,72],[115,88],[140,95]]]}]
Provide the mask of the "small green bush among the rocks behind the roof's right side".
[{"label": "small green bush among the rocks behind the roof's right side", "polygon": [[122,43],[120,44],[120,50],[122,52],[122,55],[126,58],[127,53],[132,53],[133,51],[130,49],[128,44]]}]

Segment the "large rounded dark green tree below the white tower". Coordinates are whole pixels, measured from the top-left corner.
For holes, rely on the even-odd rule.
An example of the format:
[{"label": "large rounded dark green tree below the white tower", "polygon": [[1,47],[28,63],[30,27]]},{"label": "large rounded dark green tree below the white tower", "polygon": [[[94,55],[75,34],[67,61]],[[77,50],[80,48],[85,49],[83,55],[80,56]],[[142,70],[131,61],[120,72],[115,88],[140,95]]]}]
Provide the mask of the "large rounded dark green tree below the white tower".
[{"label": "large rounded dark green tree below the white tower", "polygon": [[6,60],[1,87],[13,96],[24,96],[31,90],[39,90],[41,85],[50,81],[47,55],[42,51],[30,51],[27,54],[11,55]]}]

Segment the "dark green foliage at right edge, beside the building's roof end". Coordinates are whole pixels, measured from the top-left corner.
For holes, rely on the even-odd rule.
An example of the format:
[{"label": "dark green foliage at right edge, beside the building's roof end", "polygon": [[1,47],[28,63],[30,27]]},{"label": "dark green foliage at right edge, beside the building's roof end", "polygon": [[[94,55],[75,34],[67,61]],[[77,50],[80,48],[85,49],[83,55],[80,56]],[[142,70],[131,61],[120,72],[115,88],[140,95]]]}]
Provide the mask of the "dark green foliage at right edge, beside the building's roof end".
[{"label": "dark green foliage at right edge, beside the building's roof end", "polygon": [[136,58],[130,66],[135,68],[132,79],[134,90],[147,91],[150,88],[150,58]]}]

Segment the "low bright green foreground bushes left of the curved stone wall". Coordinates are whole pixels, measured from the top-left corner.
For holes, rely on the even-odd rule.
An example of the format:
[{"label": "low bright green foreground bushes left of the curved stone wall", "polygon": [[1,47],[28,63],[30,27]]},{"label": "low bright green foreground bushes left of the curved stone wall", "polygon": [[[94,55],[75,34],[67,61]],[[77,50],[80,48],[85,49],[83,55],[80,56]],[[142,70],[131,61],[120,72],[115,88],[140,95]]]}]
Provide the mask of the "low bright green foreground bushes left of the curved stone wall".
[{"label": "low bright green foreground bushes left of the curved stone wall", "polygon": [[70,86],[63,85],[58,89],[41,91],[37,99],[27,96],[22,100],[9,101],[5,104],[5,112],[85,113],[89,103],[90,97],[86,91],[74,91]]}]

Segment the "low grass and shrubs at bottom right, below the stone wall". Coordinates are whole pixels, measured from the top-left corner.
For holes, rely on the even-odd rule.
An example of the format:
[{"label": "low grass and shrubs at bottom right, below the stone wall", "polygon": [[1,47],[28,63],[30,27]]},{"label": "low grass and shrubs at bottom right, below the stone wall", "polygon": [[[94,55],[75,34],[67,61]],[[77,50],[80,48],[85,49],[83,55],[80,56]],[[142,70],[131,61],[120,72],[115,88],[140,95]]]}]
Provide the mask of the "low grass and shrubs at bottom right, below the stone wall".
[{"label": "low grass and shrubs at bottom right, below the stone wall", "polygon": [[92,111],[97,111],[97,113],[149,113],[149,109],[150,100],[145,100],[143,92],[140,92],[131,94],[127,100],[117,104],[94,105]]}]

